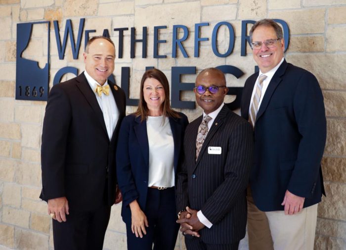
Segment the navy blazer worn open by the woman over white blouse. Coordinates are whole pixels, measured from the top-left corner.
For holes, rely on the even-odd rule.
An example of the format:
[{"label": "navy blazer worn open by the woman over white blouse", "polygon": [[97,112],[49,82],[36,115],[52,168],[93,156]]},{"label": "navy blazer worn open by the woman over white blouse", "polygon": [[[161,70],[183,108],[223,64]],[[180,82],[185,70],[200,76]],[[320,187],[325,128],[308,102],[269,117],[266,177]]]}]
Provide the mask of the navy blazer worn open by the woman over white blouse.
[{"label": "navy blazer worn open by the woman over white blouse", "polygon": [[[185,114],[170,120],[174,142],[174,174],[182,160],[182,143],[188,120]],[[117,146],[117,176],[123,195],[122,216],[125,223],[131,222],[129,204],[136,200],[144,211],[149,178],[149,143],[146,121],[140,122],[140,116],[126,116],[121,124]]]}]

